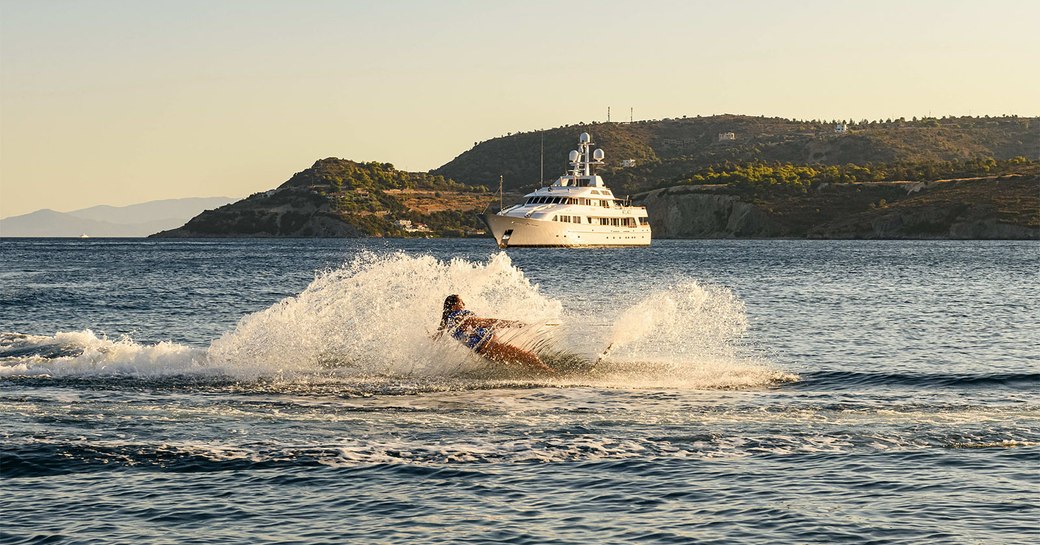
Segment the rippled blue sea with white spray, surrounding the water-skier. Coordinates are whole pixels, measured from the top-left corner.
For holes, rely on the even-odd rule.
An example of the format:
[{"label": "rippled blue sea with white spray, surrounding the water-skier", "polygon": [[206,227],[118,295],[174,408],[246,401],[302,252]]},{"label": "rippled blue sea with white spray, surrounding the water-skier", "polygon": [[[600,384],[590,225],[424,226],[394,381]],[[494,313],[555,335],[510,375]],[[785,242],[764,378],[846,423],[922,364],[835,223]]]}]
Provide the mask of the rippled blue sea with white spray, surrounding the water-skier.
[{"label": "rippled blue sea with white spray, surrounding the water-skier", "polygon": [[[5,544],[1040,542],[1040,244],[0,240]],[[437,328],[521,320],[492,363]]]}]

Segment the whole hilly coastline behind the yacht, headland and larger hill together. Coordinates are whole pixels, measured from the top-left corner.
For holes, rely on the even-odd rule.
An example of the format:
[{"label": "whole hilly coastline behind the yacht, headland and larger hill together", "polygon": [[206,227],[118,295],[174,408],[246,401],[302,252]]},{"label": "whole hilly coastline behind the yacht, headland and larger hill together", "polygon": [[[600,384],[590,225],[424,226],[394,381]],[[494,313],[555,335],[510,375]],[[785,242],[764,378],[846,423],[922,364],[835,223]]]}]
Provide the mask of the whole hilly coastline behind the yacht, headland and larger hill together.
[{"label": "whole hilly coastline behind the yacht, headland and larger hill together", "polygon": [[537,186],[543,145],[555,178],[580,132],[607,153],[598,173],[615,194],[647,205],[656,237],[1040,237],[1040,119],[747,115],[508,135],[430,173],[320,159],[154,236],[477,236],[474,212],[498,201],[487,185],[503,175],[511,191]]}]

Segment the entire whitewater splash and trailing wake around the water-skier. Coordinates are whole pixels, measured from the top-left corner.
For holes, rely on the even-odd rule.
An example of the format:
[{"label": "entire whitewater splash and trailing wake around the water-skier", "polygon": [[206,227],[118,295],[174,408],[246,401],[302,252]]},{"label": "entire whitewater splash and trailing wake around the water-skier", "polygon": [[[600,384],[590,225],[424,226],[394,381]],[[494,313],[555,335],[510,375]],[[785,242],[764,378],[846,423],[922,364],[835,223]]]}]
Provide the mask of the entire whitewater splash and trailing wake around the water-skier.
[{"label": "entire whitewater splash and trailing wake around the water-skier", "polygon": [[743,303],[726,288],[681,283],[647,294],[603,327],[589,319],[588,310],[568,311],[546,296],[504,253],[486,263],[362,254],[318,274],[298,295],[243,317],[208,348],[110,340],[90,331],[5,334],[0,377],[190,374],[306,382],[478,373],[515,380],[518,369],[435,338],[449,293],[460,294],[477,315],[529,325],[499,332],[501,340],[550,361],[589,363],[580,371],[528,381],[733,388],[790,380],[768,362],[740,354],[747,318]]}]

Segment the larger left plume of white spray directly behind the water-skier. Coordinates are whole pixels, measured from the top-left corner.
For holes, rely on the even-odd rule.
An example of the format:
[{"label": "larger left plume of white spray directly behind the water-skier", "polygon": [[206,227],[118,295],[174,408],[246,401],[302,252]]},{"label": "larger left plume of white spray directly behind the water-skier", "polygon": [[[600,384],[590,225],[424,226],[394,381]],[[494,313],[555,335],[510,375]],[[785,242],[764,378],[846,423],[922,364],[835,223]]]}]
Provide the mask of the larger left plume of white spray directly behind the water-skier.
[{"label": "larger left plume of white spray directly behind the water-skier", "polygon": [[479,315],[531,323],[558,320],[505,254],[487,264],[365,253],[321,272],[301,294],[245,316],[215,340],[210,359],[238,373],[452,374],[479,358],[434,336],[444,297],[458,293]]}]

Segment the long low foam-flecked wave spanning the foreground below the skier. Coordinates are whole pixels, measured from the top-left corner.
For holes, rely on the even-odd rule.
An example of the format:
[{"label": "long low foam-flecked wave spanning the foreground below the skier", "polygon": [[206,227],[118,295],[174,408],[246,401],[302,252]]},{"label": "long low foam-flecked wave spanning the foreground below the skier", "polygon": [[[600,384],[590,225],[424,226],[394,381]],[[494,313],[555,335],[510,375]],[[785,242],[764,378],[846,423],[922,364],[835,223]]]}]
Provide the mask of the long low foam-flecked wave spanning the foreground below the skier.
[{"label": "long low foam-flecked wave spanning the foreground below the skier", "polygon": [[612,437],[574,433],[546,436],[428,436],[339,438],[327,443],[222,443],[219,440],[165,441],[25,438],[0,446],[4,477],[37,477],[123,468],[207,472],[358,465],[460,466],[495,463],[645,462],[647,459],[733,459],[746,457],[838,456],[891,452],[916,456],[933,449],[993,449],[1035,460],[1040,441],[1008,438],[1005,432],[860,434],[748,434],[711,432]]}]

